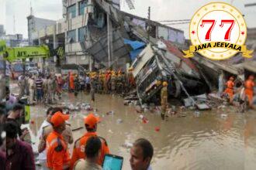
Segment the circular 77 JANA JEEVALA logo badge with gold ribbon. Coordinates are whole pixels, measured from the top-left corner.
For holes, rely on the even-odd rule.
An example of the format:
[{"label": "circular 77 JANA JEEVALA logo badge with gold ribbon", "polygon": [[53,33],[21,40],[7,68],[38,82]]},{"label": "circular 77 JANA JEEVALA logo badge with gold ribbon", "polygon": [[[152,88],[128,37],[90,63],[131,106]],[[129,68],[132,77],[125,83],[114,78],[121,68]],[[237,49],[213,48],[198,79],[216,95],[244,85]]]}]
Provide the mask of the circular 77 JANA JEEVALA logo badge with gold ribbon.
[{"label": "circular 77 JANA JEEVALA logo badge with gold ribbon", "polygon": [[242,52],[247,38],[243,15],[234,6],[213,2],[199,8],[189,26],[192,53],[209,59],[228,59]]}]

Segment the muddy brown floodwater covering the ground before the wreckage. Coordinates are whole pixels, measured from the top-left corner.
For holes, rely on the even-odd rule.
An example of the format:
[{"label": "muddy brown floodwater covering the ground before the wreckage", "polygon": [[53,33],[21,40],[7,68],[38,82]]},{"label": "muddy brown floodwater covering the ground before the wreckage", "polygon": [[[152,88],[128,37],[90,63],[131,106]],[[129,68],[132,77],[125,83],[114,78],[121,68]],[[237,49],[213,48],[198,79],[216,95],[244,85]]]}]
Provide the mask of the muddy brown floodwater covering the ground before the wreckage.
[{"label": "muddy brown floodwater covering the ground before the wreckage", "polygon": [[[89,96],[64,93],[61,102],[90,103]],[[92,104],[92,103],[91,103]],[[140,114],[133,105],[124,106],[123,98],[114,95],[96,95],[95,114],[102,117],[98,134],[106,138],[110,151],[124,158],[123,169],[130,169],[130,149],[124,144],[137,138],[147,138],[154,146],[153,169],[256,169],[256,111],[237,113],[234,107],[215,108],[211,111],[185,111],[185,117],[168,117],[147,111],[148,123],[140,121]],[[47,107],[31,107],[33,148],[38,144],[37,131],[45,119]],[[114,114],[106,113],[113,110]],[[83,117],[87,111],[71,113],[70,123],[74,140],[85,133]],[[227,114],[223,117],[221,114]],[[122,122],[119,120],[121,119]],[[156,131],[159,128],[160,131]],[[72,150],[71,146],[71,150]]]}]

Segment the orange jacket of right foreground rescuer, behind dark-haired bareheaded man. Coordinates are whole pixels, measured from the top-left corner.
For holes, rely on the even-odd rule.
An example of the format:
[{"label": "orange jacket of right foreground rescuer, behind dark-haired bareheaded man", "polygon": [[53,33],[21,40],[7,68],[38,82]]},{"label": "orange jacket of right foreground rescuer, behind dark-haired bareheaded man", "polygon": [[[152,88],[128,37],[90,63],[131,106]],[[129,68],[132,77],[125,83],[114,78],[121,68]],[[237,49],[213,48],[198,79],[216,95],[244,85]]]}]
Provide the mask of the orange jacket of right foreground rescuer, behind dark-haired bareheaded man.
[{"label": "orange jacket of right foreground rescuer, behind dark-haired bareheaded man", "polygon": [[[81,138],[78,138],[78,140],[74,142],[74,150],[73,150],[73,154],[72,154],[72,158],[71,158],[71,169],[74,167],[74,163],[77,162],[78,159],[86,157],[86,155],[85,155],[86,141],[88,140],[88,138],[90,138],[92,136],[97,136],[97,134],[95,132],[85,133],[84,136],[82,136]],[[102,149],[101,149],[101,155],[100,155],[98,164],[102,165],[104,156],[106,154],[109,154],[109,147],[104,138],[101,138],[101,137],[99,137],[99,138],[102,141]]]}]

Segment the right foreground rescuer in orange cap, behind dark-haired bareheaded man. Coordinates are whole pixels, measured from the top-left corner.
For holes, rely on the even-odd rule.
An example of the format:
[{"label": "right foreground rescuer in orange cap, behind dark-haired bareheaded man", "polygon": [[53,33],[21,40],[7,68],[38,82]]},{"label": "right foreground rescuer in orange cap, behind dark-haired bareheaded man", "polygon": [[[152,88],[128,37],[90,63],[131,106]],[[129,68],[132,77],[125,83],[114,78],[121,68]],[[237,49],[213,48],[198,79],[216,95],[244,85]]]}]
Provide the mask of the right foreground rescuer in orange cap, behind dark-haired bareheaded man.
[{"label": "right foreground rescuer in orange cap, behind dark-haired bareheaded man", "polygon": [[[97,124],[99,123],[99,117],[95,117],[94,114],[88,114],[88,117],[85,117],[85,128],[88,131],[81,138],[78,138],[77,141],[74,142],[74,150],[71,158],[71,168],[74,167],[74,163],[78,161],[78,159],[86,158],[85,155],[85,145],[88,138],[92,136],[98,136],[96,134]],[[98,136],[99,137],[99,136]],[[109,147],[104,138],[99,137],[102,142],[101,154],[99,155],[98,164],[102,165],[104,156],[109,154]]]}]

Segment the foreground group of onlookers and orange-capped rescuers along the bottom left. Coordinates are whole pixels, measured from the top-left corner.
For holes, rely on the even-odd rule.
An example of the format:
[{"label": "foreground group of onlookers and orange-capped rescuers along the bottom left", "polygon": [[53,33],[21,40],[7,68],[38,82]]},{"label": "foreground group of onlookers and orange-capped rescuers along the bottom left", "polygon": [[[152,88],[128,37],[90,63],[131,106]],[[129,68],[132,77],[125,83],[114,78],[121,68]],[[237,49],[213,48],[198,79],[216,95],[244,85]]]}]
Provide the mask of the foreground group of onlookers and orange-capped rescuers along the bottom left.
[{"label": "foreground group of onlookers and orange-capped rescuers along the bottom left", "polygon": [[[6,107],[8,106],[8,107]],[[40,127],[39,156],[35,157],[25,122],[24,104],[0,105],[0,167],[1,169],[102,169],[105,155],[111,154],[108,142],[97,133],[101,121],[95,114],[84,118],[85,134],[73,138],[69,114],[60,107],[50,107]],[[74,143],[72,154],[69,146]],[[150,169],[154,149],[144,138],[137,139],[130,148],[130,167],[133,170]]]}]

